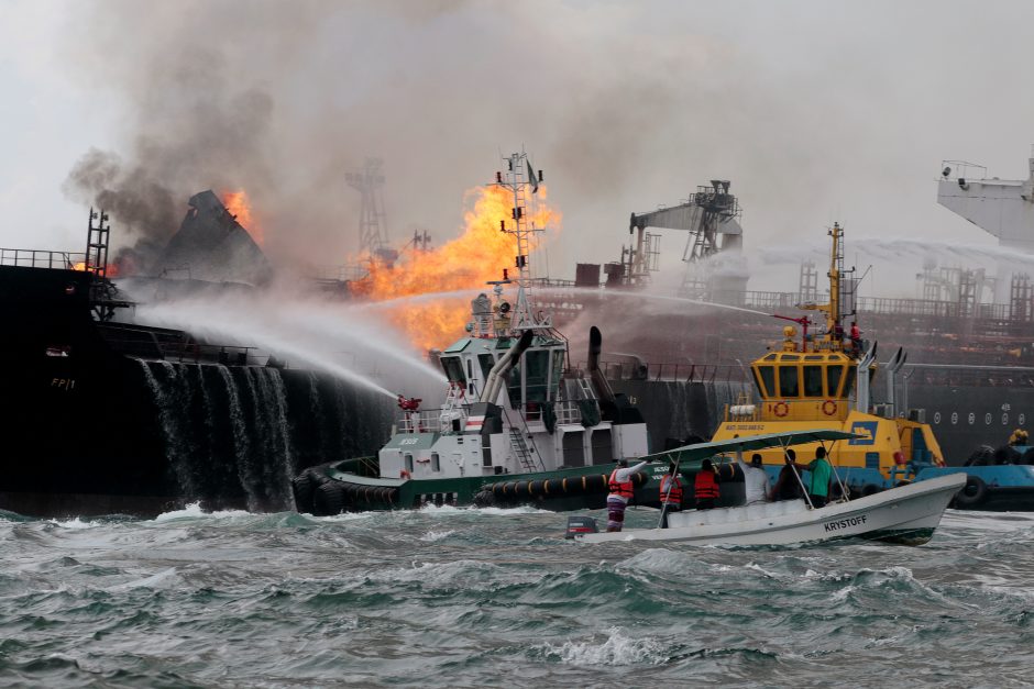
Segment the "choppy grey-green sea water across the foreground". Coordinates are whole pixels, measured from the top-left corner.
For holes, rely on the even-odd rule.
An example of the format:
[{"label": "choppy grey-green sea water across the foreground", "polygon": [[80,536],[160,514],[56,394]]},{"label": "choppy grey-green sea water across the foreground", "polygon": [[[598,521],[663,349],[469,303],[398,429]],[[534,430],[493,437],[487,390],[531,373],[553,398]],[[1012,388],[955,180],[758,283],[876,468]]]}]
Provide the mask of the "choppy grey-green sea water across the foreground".
[{"label": "choppy grey-green sea water across the foreground", "polygon": [[1034,514],[949,511],[915,548],[588,546],[565,521],[0,513],[0,686],[1034,681]]}]

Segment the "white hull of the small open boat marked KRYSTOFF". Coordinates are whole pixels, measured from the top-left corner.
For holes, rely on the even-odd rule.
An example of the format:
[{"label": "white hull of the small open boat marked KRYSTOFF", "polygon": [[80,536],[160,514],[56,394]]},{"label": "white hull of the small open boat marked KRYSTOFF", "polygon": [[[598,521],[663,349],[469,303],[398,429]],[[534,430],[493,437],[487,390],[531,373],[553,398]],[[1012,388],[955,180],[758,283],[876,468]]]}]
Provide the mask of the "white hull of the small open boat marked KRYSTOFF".
[{"label": "white hull of the small open boat marked KRYSTOFF", "polygon": [[669,516],[668,529],[588,533],[575,540],[583,543],[663,541],[690,545],[791,545],[856,537],[921,545],[933,536],[952,498],[966,485],[965,479],[965,474],[944,476],[817,510],[799,500],[676,512]]}]

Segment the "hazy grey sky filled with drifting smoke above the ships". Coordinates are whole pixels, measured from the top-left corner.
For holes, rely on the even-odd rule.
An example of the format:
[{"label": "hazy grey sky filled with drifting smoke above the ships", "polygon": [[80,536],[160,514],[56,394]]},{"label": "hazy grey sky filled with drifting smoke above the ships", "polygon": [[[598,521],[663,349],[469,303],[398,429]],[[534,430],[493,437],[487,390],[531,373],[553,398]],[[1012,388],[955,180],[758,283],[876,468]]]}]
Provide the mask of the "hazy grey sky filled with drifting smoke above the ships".
[{"label": "hazy grey sky filled with drifting smoke above the ships", "polygon": [[107,181],[172,199],[114,218],[117,243],[242,186],[274,259],[338,263],[356,244],[343,175],[370,155],[394,237],[441,243],[521,145],[563,212],[557,277],[712,178],[751,251],[821,245],[834,220],[849,240],[989,244],[935,180],[943,158],[1026,176],[1032,26],[1031,3],[944,0],[2,0],[0,246],[81,251],[90,189],[68,179],[91,149],[120,162]]}]

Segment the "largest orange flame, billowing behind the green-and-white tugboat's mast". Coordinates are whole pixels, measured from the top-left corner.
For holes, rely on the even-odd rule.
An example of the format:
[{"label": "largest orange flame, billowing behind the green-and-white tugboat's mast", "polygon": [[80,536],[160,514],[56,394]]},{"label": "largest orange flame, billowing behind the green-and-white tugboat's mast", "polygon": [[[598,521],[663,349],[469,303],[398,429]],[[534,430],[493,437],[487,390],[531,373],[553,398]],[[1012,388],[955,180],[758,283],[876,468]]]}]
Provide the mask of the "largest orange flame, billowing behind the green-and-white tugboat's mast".
[{"label": "largest orange flame, billowing behind the green-and-white tugboat's mast", "polygon": [[[538,203],[527,220],[536,227],[559,229],[561,214],[546,204],[546,187],[539,187]],[[487,289],[485,282],[498,280],[503,270],[516,276],[517,242],[499,230],[499,221],[512,226],[513,193],[502,187],[468,190],[464,202],[473,199],[473,209],[463,215],[463,234],[430,251],[407,249],[392,265],[370,259],[370,275],[354,286],[354,291],[374,300],[417,295]],[[436,299],[389,312],[413,344],[421,351],[442,348],[463,334],[470,321],[470,299]]]}]

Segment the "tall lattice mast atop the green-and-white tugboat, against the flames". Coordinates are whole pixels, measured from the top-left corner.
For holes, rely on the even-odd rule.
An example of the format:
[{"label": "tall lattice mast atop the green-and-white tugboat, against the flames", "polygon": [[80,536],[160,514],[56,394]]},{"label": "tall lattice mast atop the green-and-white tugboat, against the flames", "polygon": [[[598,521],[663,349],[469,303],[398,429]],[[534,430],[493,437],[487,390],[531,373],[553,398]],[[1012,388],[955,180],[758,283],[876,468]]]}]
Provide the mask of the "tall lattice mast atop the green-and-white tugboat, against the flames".
[{"label": "tall lattice mast atop the green-and-white tugboat, against the flames", "polygon": [[536,175],[525,152],[510,154],[503,159],[506,162],[506,173],[496,173],[495,181],[490,186],[503,187],[514,196],[510,218],[499,220],[499,230],[517,241],[517,256],[514,260],[517,268],[517,303],[510,315],[510,329],[525,331],[552,327],[552,318],[536,313],[531,300],[531,236],[546,229],[528,220],[528,205],[535,201],[534,195],[539,190],[542,171]]}]

